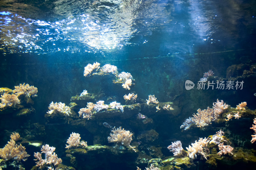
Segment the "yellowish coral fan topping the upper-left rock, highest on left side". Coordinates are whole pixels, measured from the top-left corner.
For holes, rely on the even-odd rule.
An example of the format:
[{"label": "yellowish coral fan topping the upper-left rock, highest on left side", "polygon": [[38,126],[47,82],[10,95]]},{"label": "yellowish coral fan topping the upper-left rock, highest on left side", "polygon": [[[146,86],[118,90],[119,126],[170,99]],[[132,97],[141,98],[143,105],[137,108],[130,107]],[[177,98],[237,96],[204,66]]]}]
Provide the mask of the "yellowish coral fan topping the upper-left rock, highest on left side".
[{"label": "yellowish coral fan topping the upper-left rock, highest on left side", "polygon": [[34,86],[29,86],[28,84],[25,85],[25,83],[20,84],[19,86],[14,86],[15,89],[12,91],[17,96],[20,96],[22,94],[26,95],[27,97],[36,97],[37,88]]}]

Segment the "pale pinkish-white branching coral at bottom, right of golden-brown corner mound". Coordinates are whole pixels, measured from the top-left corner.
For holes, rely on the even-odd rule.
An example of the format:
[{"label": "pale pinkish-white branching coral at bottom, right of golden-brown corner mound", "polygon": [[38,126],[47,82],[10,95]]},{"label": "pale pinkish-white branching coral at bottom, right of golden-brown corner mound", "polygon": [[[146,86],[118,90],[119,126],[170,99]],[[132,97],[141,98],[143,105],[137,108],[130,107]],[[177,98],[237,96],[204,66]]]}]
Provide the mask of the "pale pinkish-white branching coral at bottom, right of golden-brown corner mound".
[{"label": "pale pinkish-white branching coral at bottom, right of golden-brown corner mound", "polygon": [[[34,152],[34,159],[36,161],[36,167],[43,168],[47,166],[58,166],[62,159],[58,158],[57,154],[54,152],[55,147],[49,146],[48,144],[43,145],[40,152]],[[42,159],[42,153],[44,153],[45,159]],[[49,167],[48,167],[49,168]]]}]

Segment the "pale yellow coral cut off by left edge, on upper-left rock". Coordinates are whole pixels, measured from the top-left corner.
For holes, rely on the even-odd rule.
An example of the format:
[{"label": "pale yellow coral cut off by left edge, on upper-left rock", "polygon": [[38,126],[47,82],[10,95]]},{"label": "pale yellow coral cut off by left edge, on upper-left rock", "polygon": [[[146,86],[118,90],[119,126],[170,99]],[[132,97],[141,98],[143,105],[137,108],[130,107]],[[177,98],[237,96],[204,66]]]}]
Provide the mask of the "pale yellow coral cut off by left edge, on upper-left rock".
[{"label": "pale yellow coral cut off by left edge, on upper-left rock", "polygon": [[0,99],[0,108],[15,107],[16,104],[20,104],[20,100],[18,99],[18,96],[15,94],[4,93],[3,95],[1,95]]}]

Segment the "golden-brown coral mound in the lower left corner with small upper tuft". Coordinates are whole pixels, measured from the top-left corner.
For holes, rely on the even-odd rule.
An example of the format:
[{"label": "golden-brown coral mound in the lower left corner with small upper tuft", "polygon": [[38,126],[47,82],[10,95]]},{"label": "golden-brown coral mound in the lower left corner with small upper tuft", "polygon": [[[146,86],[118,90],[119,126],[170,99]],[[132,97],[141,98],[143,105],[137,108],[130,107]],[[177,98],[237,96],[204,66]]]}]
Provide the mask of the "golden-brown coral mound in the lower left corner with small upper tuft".
[{"label": "golden-brown coral mound in the lower left corner with small upper tuft", "polygon": [[0,157],[5,161],[13,159],[13,160],[27,160],[27,157],[30,155],[25,151],[26,148],[21,144],[18,145],[15,143],[14,139],[18,140],[20,138],[19,133],[12,133],[11,140],[4,146],[4,148],[0,149]]}]

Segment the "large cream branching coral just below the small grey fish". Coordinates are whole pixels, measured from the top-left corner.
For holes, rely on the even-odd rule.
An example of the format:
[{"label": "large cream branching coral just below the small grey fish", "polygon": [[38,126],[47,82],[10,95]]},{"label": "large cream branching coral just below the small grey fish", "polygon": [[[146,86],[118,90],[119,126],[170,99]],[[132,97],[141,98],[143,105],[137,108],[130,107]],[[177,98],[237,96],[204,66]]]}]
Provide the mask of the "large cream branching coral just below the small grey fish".
[{"label": "large cream branching coral just below the small grey fish", "polygon": [[120,126],[119,128],[113,128],[113,130],[111,131],[112,133],[110,133],[110,137],[108,137],[108,142],[114,142],[117,144],[122,144],[126,147],[130,147],[132,148],[133,151],[136,152],[136,150],[134,149],[134,147],[132,147],[130,145],[131,141],[132,141],[132,133],[129,130],[124,130],[122,129],[122,127]]}]

